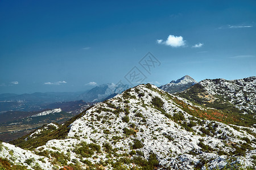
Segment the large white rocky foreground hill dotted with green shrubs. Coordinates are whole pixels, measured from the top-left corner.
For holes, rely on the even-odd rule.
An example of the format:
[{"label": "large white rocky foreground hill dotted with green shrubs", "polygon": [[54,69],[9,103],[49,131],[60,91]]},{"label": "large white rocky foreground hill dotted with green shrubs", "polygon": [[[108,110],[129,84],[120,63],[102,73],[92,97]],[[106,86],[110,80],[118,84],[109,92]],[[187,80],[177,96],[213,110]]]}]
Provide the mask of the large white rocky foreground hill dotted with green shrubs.
[{"label": "large white rocky foreground hill dotted with green shrubs", "polygon": [[[47,125],[11,143],[45,156],[51,164],[30,162],[42,169],[253,169],[256,129],[224,124],[220,116],[225,114],[142,84],[63,125]],[[3,145],[1,155],[18,152],[13,145]],[[27,165],[23,159],[7,158]]]}]

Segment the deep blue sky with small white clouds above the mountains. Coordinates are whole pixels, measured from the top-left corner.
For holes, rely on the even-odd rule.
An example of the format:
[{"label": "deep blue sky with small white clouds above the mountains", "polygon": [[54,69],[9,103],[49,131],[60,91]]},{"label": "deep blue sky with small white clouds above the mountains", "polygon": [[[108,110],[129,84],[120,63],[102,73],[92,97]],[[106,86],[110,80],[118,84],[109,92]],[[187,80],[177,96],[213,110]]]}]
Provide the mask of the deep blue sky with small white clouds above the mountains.
[{"label": "deep blue sky with small white clouds above the mountains", "polygon": [[0,94],[256,76],[256,1],[0,1]]}]

